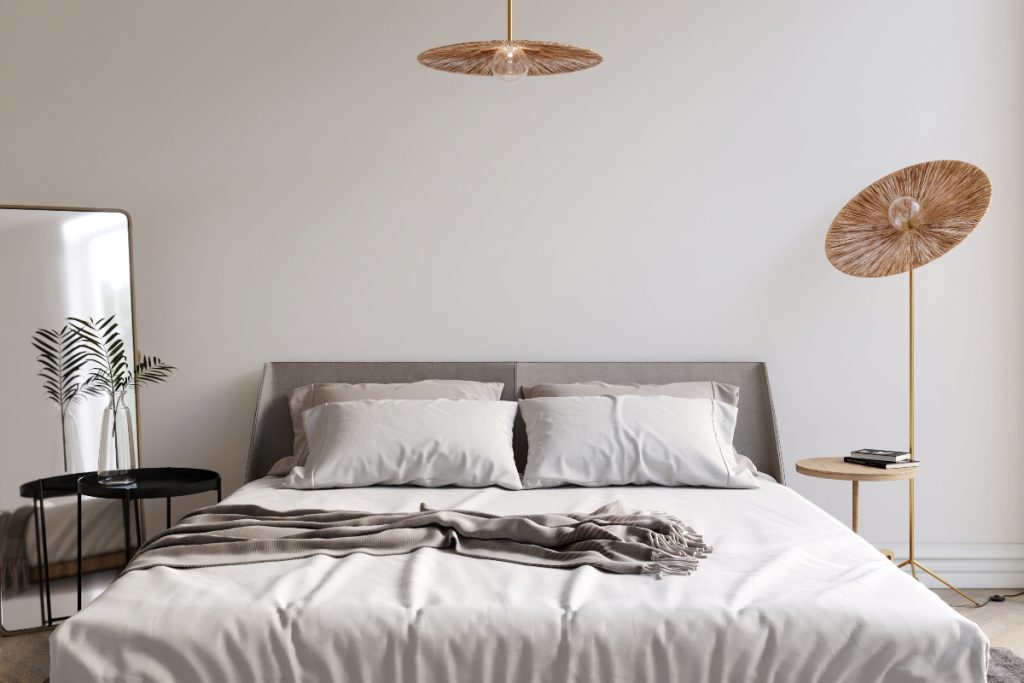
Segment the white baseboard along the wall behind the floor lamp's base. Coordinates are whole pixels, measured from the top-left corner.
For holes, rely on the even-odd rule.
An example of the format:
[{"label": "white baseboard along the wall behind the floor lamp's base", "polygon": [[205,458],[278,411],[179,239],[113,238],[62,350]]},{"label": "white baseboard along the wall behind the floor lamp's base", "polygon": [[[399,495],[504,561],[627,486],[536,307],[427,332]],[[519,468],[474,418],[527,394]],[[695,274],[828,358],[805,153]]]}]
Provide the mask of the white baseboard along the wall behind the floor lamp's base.
[{"label": "white baseboard along the wall behind the floor lamp's base", "polygon": [[[896,553],[897,561],[906,559],[906,544],[886,547]],[[1024,590],[1024,543],[918,544],[916,558],[957,588]],[[942,588],[923,571],[918,577],[927,586]]]}]

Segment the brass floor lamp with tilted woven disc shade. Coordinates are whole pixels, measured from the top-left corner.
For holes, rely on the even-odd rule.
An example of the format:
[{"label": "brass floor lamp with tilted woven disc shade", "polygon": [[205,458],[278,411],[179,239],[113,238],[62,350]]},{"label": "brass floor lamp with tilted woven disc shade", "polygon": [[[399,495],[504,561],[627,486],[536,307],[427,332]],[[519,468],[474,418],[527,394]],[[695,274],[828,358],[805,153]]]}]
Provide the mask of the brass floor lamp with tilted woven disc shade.
[{"label": "brass floor lamp with tilted woven disc shade", "polygon": [[[975,228],[992,189],[985,173],[961,161],[932,161],[891,173],[871,183],[839,212],[825,237],[825,256],[857,278],[907,273],[909,295],[909,441],[913,449],[913,271],[958,245]],[[909,566],[979,604],[938,575],[913,554],[913,484],[909,479]]]}]

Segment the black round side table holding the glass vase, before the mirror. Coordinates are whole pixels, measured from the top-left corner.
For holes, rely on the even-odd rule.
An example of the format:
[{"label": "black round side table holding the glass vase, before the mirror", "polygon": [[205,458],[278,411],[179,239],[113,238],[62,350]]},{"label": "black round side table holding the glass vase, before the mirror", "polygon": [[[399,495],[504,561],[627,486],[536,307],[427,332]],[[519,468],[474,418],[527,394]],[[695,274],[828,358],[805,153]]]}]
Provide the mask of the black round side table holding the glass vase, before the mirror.
[{"label": "black round side table holding the glass vase, before the mirror", "polygon": [[[99,482],[95,472],[78,479],[78,600],[82,608],[82,497],[121,499],[125,521],[125,564],[131,561],[131,503],[147,498],[167,499],[167,527],[171,526],[171,499],[178,496],[217,492],[220,503],[220,475],[213,470],[191,467],[142,467],[133,470],[135,481],[130,484],[111,486]],[[142,547],[142,525],[138,510],[135,511],[135,539]]]}]

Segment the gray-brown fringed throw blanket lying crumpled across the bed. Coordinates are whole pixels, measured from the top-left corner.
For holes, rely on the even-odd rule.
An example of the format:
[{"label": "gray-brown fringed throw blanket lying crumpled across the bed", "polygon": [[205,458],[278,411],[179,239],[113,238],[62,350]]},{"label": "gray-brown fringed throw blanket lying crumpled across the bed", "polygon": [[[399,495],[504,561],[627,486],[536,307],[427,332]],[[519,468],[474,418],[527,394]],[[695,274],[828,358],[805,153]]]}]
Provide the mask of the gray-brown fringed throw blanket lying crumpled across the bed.
[{"label": "gray-brown fringed throw blanket lying crumpled across the bed", "polygon": [[420,548],[544,567],[588,564],[613,573],[688,574],[711,546],[670,515],[615,502],[590,514],[500,516],[468,510],[375,514],[278,512],[217,505],[156,536],[125,571],[291,560],[353,553],[401,555]]}]

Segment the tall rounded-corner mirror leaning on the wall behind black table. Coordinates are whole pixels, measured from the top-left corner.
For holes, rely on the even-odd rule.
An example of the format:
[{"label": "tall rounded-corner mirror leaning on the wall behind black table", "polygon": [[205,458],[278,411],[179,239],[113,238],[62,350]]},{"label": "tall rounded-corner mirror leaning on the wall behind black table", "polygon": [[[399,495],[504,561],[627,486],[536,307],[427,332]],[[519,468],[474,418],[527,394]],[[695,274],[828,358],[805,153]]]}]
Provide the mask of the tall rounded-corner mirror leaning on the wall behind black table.
[{"label": "tall rounded-corner mirror leaning on the wall behind black table", "polygon": [[128,215],[0,207],[0,632],[8,633],[67,618],[125,563],[122,505],[80,505],[78,477],[137,467],[134,392],[112,395],[101,372],[112,353],[122,365],[136,359]]}]

